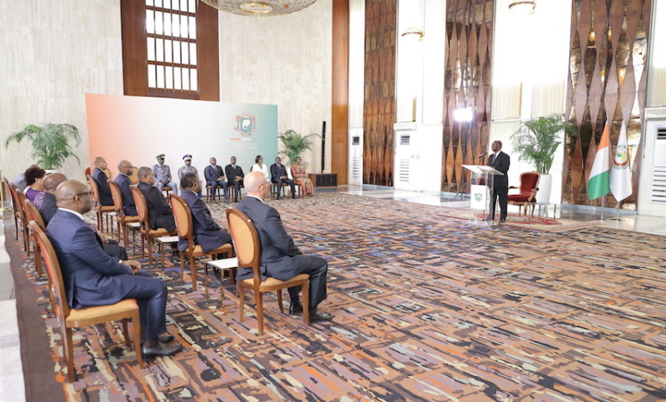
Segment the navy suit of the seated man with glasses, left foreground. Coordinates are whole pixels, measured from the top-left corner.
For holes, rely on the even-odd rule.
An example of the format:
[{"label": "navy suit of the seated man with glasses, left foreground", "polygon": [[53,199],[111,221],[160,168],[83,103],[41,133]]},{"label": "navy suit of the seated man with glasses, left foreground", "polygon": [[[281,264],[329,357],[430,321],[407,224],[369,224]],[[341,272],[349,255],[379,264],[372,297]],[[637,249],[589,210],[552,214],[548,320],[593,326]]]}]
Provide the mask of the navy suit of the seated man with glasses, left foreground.
[{"label": "navy suit of the seated man with glasses, left foreground", "polygon": [[136,298],[141,329],[152,339],[166,331],[166,285],[107,255],[101,240],[79,216],[58,210],[46,229],[63,271],[67,303],[73,308],[105,306]]}]

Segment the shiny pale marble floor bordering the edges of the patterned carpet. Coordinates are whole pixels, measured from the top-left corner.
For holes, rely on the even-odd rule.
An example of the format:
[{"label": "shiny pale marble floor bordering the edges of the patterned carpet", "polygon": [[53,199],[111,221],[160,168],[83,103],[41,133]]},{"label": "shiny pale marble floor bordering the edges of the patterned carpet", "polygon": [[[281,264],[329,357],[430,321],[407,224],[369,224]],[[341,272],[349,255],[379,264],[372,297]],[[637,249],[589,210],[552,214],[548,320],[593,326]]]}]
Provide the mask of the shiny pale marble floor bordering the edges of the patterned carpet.
[{"label": "shiny pale marble floor bordering the edges of the patterned carpet", "polygon": [[[442,205],[452,208],[468,208],[469,200],[453,193],[423,193],[378,188],[374,186],[343,185],[337,188],[316,188],[317,193],[341,192],[365,197],[393,199],[408,203]],[[512,209],[515,208],[515,211]],[[510,205],[510,213],[518,212],[518,207]],[[542,214],[546,211],[541,212]],[[578,205],[549,205],[548,214],[577,221],[602,220],[599,208]],[[604,211],[602,225],[618,230],[666,236],[666,218],[637,215],[633,211]],[[4,249],[4,222],[0,220],[0,401],[24,400],[21,351],[16,317],[16,303],[13,300],[13,279],[10,272],[9,255]]]}]

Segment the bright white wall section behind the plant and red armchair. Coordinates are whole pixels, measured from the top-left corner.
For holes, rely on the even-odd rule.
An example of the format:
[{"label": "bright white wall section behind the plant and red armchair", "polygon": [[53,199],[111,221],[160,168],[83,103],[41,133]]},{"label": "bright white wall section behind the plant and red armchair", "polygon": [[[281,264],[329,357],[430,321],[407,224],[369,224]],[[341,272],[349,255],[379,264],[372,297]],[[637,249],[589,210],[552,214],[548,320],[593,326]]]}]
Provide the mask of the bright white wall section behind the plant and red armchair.
[{"label": "bright white wall section behind the plant and red armchair", "polygon": [[[529,15],[509,10],[507,2],[495,3],[489,143],[501,140],[502,151],[511,156],[510,186],[518,186],[520,173],[535,170],[512,152],[510,136],[518,122],[564,113],[570,26],[571,0],[537,2],[535,13]],[[555,203],[560,203],[562,197],[563,160],[561,146],[550,172],[550,200]]]}]

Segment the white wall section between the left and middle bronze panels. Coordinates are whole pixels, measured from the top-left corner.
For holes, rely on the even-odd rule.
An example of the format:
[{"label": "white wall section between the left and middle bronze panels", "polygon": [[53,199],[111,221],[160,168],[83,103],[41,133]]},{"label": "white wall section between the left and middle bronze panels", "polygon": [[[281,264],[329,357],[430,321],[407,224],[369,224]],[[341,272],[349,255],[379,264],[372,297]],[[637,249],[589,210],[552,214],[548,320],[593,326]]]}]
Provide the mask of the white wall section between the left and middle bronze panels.
[{"label": "white wall section between the left and middle bronze panels", "polygon": [[[442,188],[445,4],[441,0],[400,0],[396,75],[396,189],[439,192]],[[416,28],[424,36],[402,37]],[[409,147],[400,136],[409,134]],[[409,163],[409,180],[400,180],[400,164]]]}]

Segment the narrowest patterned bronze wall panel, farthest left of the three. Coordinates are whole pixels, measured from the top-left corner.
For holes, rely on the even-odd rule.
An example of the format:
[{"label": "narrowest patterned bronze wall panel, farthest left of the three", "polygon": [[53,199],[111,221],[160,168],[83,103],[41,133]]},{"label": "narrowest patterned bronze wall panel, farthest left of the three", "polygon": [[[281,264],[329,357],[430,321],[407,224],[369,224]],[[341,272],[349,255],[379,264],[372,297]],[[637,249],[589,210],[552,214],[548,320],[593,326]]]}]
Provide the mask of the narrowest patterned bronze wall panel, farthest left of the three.
[{"label": "narrowest patterned bronze wall panel, farthest left of the three", "polygon": [[393,185],[396,0],[366,0],[363,183]]}]

